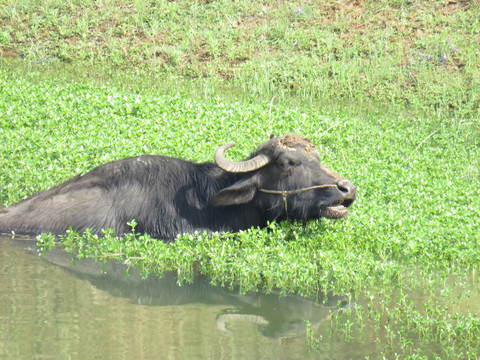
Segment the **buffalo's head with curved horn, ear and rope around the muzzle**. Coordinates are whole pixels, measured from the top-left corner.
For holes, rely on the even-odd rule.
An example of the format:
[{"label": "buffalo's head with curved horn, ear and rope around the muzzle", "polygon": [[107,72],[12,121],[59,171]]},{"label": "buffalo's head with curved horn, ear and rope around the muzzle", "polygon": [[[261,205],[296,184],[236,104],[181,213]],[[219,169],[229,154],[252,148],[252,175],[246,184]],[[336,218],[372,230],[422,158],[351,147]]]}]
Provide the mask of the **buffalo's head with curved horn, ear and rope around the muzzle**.
[{"label": "buffalo's head with curved horn, ear and rope around the muzzle", "polygon": [[355,201],[355,186],[322,165],[308,139],[291,134],[272,137],[241,162],[225,159],[224,152],[233,145],[221,146],[215,162],[227,172],[246,176],[218,192],[215,206],[248,203],[267,218],[306,221],[342,218]]}]

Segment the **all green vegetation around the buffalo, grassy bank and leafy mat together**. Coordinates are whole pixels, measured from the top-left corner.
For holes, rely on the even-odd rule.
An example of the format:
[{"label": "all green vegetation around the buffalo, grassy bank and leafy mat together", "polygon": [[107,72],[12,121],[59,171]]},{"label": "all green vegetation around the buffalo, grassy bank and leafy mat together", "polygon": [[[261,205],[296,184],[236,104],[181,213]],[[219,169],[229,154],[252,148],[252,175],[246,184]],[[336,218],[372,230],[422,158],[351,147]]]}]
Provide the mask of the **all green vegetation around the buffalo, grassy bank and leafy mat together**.
[{"label": "all green vegetation around the buffalo, grassy bank and leafy mat together", "polygon": [[375,358],[480,356],[478,4],[2,4],[2,204],[118,158],[211,161],[235,141],[240,159],[301,133],[357,186],[347,219],[61,244],[180,283],[349,296],[328,329],[307,325],[313,353],[330,338],[376,339]]}]

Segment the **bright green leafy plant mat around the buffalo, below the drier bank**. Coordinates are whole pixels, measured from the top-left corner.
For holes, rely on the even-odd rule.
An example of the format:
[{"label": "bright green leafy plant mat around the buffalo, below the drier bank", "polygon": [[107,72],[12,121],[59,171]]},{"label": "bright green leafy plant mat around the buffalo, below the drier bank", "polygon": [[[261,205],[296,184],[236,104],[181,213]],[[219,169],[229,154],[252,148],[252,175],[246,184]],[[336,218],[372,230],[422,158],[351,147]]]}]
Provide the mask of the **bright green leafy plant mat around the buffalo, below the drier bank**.
[{"label": "bright green leafy plant mat around the buffalo, below the drier bank", "polygon": [[[355,302],[332,321],[368,323],[374,331],[390,316],[390,332],[377,334],[387,355],[406,349],[410,355],[470,356],[479,348],[480,324],[462,304],[472,279],[478,282],[480,264],[480,126],[475,119],[405,116],[392,109],[363,109],[355,116],[338,106],[192,98],[2,67],[0,199],[9,205],[127,156],[210,161],[219,145],[234,141],[231,156],[241,159],[271,132],[303,134],[327,166],[357,186],[346,219],[184,235],[171,244],[107,232],[102,238],[44,235],[39,245],[56,243],[77,258],[118,259],[145,276],[174,271],[180,283],[201,273],[241,292],[347,294],[352,302],[364,299],[363,305]],[[447,281],[451,277],[456,283]],[[454,291],[459,284],[461,291]],[[419,288],[424,304],[412,292]],[[449,308],[452,303],[458,307]],[[464,336],[465,329],[473,336]],[[341,335],[362,337],[346,330]]]}]

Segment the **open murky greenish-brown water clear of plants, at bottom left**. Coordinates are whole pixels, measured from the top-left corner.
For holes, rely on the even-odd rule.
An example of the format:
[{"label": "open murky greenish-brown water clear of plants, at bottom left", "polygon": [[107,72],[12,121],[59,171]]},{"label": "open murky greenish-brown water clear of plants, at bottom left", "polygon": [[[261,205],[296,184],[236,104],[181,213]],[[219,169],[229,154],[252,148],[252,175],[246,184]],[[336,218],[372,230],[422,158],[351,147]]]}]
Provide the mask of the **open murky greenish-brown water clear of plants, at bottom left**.
[{"label": "open murky greenish-brown water clear of plants, at bottom left", "polygon": [[[110,265],[70,266],[62,251],[38,256],[34,241],[0,237],[1,359],[332,358],[340,344],[309,354],[305,320],[328,327],[338,299],[238,296],[205,279],[142,280]],[[337,346],[338,345],[338,346]],[[335,356],[333,356],[335,358]]]}]

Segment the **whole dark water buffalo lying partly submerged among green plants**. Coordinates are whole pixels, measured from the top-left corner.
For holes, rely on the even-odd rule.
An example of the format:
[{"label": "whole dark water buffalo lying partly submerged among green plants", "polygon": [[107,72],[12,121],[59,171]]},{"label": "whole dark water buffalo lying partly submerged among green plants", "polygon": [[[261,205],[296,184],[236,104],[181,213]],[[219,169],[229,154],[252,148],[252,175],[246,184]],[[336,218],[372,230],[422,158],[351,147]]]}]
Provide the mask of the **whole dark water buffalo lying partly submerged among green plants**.
[{"label": "whole dark water buffalo lying partly submerged among green plants", "polygon": [[342,218],[355,187],[323,166],[298,135],[272,137],[249,159],[233,162],[223,145],[215,164],[142,155],[85,175],[0,210],[0,232],[35,235],[87,228],[136,231],[163,240],[195,231],[238,231],[273,220]]}]

